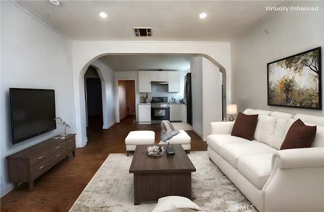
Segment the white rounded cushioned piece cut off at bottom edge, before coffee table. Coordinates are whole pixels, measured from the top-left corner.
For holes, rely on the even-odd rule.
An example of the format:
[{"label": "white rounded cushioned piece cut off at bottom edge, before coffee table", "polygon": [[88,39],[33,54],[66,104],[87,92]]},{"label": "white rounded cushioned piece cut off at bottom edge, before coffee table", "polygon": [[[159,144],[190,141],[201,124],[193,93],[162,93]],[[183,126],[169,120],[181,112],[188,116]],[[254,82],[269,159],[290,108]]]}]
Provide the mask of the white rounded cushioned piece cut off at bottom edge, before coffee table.
[{"label": "white rounded cushioned piece cut off at bottom edge, before coffee table", "polygon": [[193,203],[190,199],[183,196],[166,196],[157,200],[153,211],[166,211],[178,208],[186,208],[193,210],[203,210],[197,204]]}]

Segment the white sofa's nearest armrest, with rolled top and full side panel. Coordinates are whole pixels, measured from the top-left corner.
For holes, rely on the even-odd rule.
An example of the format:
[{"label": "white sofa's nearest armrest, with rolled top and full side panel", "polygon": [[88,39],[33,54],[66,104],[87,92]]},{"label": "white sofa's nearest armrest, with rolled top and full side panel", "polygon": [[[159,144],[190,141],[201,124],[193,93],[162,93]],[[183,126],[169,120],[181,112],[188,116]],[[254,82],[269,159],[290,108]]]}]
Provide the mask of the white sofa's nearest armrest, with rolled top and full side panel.
[{"label": "white sofa's nearest armrest, with rolled top and full side panel", "polygon": [[272,171],[262,188],[264,211],[324,210],[324,147],[273,153]]}]

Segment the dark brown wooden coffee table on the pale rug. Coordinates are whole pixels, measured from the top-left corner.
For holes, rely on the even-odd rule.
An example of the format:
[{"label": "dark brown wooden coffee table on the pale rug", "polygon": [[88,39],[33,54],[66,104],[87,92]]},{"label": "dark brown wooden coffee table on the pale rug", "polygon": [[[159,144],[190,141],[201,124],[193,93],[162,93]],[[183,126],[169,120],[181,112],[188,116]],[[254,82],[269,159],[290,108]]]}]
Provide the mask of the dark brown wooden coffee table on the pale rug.
[{"label": "dark brown wooden coffee table on the pale rug", "polygon": [[[149,145],[137,145],[130,173],[134,173],[134,204],[142,200],[157,200],[164,196],[184,196],[191,199],[191,172],[196,168],[181,144],[173,144],[173,155],[148,156]],[[163,146],[166,150],[167,145]]]}]

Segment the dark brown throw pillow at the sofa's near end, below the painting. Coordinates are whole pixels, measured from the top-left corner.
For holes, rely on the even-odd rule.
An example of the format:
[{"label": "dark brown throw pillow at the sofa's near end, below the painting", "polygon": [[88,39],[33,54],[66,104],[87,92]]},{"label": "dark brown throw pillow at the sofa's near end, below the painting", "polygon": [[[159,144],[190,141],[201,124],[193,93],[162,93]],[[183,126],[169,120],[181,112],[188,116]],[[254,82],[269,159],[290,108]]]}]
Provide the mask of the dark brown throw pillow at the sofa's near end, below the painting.
[{"label": "dark brown throw pillow at the sofa's near end, below the painting", "polygon": [[288,133],[281,149],[307,148],[310,147],[316,135],[316,126],[307,126],[300,119],[295,121]]}]

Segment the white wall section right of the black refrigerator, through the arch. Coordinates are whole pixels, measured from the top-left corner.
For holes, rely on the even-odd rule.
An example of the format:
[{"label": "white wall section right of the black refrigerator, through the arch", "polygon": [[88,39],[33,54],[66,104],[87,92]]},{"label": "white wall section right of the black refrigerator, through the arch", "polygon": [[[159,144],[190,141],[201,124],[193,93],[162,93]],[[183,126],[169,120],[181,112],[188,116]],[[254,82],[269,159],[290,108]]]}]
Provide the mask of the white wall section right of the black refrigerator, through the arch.
[{"label": "white wall section right of the black refrigerator, through the arch", "polygon": [[210,122],[222,121],[220,68],[209,59],[191,57],[192,128],[204,141],[210,134]]}]

